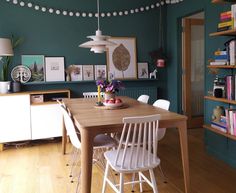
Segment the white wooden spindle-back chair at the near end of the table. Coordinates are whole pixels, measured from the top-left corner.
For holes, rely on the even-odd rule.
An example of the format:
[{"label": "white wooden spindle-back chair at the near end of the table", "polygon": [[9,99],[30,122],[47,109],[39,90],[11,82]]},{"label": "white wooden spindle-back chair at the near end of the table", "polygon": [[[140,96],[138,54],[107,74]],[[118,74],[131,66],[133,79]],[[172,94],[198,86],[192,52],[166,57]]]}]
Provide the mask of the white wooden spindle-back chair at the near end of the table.
[{"label": "white wooden spindle-back chair at the near end of the table", "polygon": [[[160,159],[157,157],[158,120],[159,115],[123,118],[124,126],[118,149],[104,153],[107,164],[102,193],[105,193],[106,183],[117,193],[124,192],[124,184],[139,183],[142,192],[142,182],[147,182],[153,192],[158,193],[153,171],[160,164]],[[132,141],[131,144],[130,141]],[[113,184],[108,179],[109,167],[120,173],[119,184]],[[144,171],[149,171],[151,180],[142,173]],[[124,174],[126,173],[138,173],[139,180],[125,183]]]}]

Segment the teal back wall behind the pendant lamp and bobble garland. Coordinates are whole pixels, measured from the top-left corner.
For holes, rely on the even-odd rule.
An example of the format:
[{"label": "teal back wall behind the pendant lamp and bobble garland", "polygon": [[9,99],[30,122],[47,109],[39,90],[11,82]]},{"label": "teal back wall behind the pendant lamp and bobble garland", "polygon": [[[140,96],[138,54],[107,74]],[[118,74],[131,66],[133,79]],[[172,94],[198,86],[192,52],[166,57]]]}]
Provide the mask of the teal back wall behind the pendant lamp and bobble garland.
[{"label": "teal back wall behind the pendant lamp and bobble garland", "polygon": [[[28,2],[28,1],[26,1]],[[41,0],[31,1],[46,7],[60,8],[61,10],[78,10],[96,12],[96,0]],[[131,8],[150,5],[154,0],[102,0],[100,12],[129,10]],[[165,14],[165,10],[164,10]],[[164,17],[166,18],[166,17]],[[159,46],[158,22],[159,9],[149,12],[137,13],[123,17],[100,18],[100,28],[105,35],[136,37],[137,61],[151,63],[149,52]],[[27,6],[20,7],[6,1],[0,1],[0,37],[23,37],[23,44],[15,50],[14,62],[11,66],[21,63],[21,55],[40,54],[45,56],[64,56],[66,66],[70,64],[106,64],[105,54],[94,54],[89,49],[79,48],[78,45],[88,41],[86,36],[93,35],[97,29],[96,18],[69,17],[35,11]],[[153,69],[151,69],[153,70]],[[128,86],[130,85],[127,82]],[[158,97],[166,96],[166,70],[158,73],[158,81],[137,82],[143,86],[156,85],[159,89]],[[24,89],[68,87],[74,96],[80,96],[83,90],[91,89],[91,84],[65,84],[65,85],[33,85]],[[95,89],[92,86],[92,88]]]}]

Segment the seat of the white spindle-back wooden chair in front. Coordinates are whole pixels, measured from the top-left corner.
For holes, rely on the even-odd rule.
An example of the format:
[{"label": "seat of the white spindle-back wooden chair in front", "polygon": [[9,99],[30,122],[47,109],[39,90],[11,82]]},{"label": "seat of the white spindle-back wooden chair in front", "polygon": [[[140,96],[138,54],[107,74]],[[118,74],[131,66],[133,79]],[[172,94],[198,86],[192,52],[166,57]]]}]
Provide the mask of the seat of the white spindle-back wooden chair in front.
[{"label": "seat of the white spindle-back wooden chair in front", "polygon": [[[122,155],[123,154],[123,151],[124,150],[120,150],[120,154]],[[142,150],[139,150],[139,155],[142,155]],[[122,156],[119,156],[119,159],[117,161],[117,164],[115,163],[115,159],[116,159],[116,155],[117,155],[117,150],[111,150],[111,151],[107,151],[104,153],[104,156],[105,158],[107,159],[108,163],[110,164],[110,166],[117,172],[120,172],[120,173],[133,173],[133,172],[138,172],[138,171],[146,171],[148,169],[152,169],[152,168],[155,168],[157,167],[161,160],[156,157],[155,160],[150,160],[151,164],[148,164],[148,159],[145,159],[144,160],[144,165],[142,165],[142,160],[141,159],[138,159],[138,163],[137,163],[137,166],[135,166],[135,163],[134,163],[134,160],[133,159],[133,162],[131,163],[131,166],[130,166],[130,156],[131,156],[131,153],[133,152],[133,157],[136,157],[137,155],[137,148],[133,148],[133,151],[132,151],[132,148],[128,148],[127,149],[127,154],[126,154],[126,158],[125,159],[125,162],[124,162],[124,167],[121,168],[121,159],[122,159]],[[148,151],[144,151],[144,155],[148,155]],[[141,157],[141,156],[140,156]],[[148,166],[148,167],[147,167]]]}]

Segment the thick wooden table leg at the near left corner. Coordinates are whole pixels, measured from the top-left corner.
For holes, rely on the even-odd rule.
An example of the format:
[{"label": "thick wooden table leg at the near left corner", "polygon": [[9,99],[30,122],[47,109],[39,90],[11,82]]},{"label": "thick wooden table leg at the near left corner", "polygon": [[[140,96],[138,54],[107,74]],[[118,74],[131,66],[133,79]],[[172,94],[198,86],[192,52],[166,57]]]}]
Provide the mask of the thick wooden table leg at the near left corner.
[{"label": "thick wooden table leg at the near left corner", "polygon": [[81,193],[91,193],[93,136],[81,129]]}]

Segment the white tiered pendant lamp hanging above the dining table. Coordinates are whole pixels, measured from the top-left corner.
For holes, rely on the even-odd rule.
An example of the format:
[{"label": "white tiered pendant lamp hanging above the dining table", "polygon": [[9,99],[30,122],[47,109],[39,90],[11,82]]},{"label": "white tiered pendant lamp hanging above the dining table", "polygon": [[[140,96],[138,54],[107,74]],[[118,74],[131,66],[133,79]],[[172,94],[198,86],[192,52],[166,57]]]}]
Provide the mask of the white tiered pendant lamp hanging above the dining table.
[{"label": "white tiered pendant lamp hanging above the dining table", "polygon": [[110,36],[102,35],[102,31],[100,30],[99,0],[97,0],[97,18],[98,29],[96,31],[96,34],[93,36],[87,36],[87,38],[90,38],[92,40],[79,45],[79,47],[90,48],[90,51],[94,53],[103,53],[107,50],[107,46],[114,46],[116,44],[108,41],[107,39],[110,38]]}]

